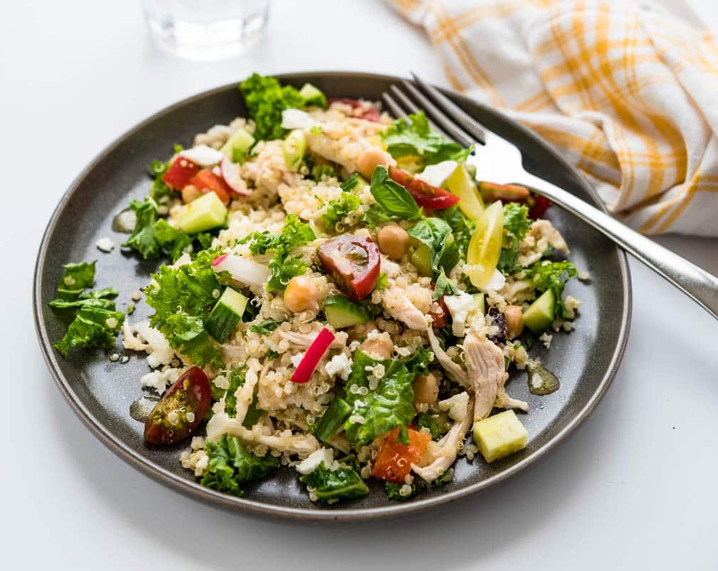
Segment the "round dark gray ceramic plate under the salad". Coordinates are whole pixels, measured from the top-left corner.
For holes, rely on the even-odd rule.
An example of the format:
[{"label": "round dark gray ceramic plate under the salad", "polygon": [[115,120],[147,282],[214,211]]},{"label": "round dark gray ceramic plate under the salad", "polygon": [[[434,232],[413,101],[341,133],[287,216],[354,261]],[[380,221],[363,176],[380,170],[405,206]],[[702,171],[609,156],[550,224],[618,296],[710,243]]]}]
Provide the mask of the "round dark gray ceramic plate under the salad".
[{"label": "round dark gray ceramic plate under the salad", "polygon": [[[310,81],[328,96],[381,100],[381,93],[398,78],[363,73],[300,73],[284,75],[282,82],[299,87]],[[595,192],[544,141],[489,108],[450,94],[482,124],[521,147],[526,167],[574,192],[600,208]],[[561,229],[572,249],[572,259],[587,269],[591,282],[573,280],[569,294],[582,300],[577,328],[569,335],[555,335],[551,351],[534,348],[546,366],[558,373],[561,388],[548,396],[528,392],[525,373],[513,374],[510,394],[525,399],[531,412],[522,417],[530,436],[528,447],[504,460],[487,465],[480,458],[457,462],[454,479],[444,488],[420,493],[406,503],[386,499],[381,486],[361,501],[335,506],[315,505],[292,470],[279,470],[268,480],[251,486],[243,498],[233,498],[202,488],[177,460],[186,447],[150,447],[142,440],[142,424],[129,413],[141,396],[139,378],[148,371],[144,358],[130,355],[129,363],[111,362],[106,353],[84,353],[65,359],[52,349],[60,339],[62,324],[47,307],[55,297],[62,264],[97,259],[97,286],[113,285],[121,292],[118,307],[125,309],[131,292],[148,282],[157,263],[141,261],[115,249],[102,254],[95,247],[108,236],[121,243],[124,235],[112,231],[113,217],[130,198],[141,198],[148,188],[146,166],[153,159],[172,154],[172,144],[191,144],[194,134],[215,124],[227,124],[245,113],[236,84],[201,93],[160,111],[121,136],[73,183],[57,205],[42,240],[34,280],[34,315],[42,351],[57,386],[80,419],[123,460],[157,481],[205,501],[243,512],[305,519],[369,519],[424,509],[484,490],[516,474],[541,458],[567,437],[592,411],[607,389],[620,362],[630,321],[630,279],[625,254],[607,238],[559,208],[548,218]],[[144,304],[130,317],[147,315]],[[123,354],[118,341],[116,352]]]}]

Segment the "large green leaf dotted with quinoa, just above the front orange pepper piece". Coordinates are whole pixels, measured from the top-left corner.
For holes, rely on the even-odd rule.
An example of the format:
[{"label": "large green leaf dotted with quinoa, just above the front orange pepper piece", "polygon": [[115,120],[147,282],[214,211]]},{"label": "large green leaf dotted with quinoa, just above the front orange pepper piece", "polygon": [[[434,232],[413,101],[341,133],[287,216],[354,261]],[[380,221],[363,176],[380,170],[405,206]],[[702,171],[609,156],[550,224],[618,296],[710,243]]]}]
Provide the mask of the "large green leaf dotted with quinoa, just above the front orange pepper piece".
[{"label": "large green leaf dotted with quinoa, just above the front orange pepper piece", "polygon": [[[354,362],[349,379],[346,382],[346,401],[353,407],[352,415],[344,424],[348,440],[357,444],[367,444],[375,437],[386,434],[398,426],[408,426],[416,410],[414,409],[414,389],[412,381],[417,375],[424,374],[429,363],[429,352],[421,349],[409,361],[373,359],[362,351],[354,354]],[[370,389],[370,373],[367,368],[378,370],[383,375],[376,389]],[[352,386],[366,387],[368,394],[354,392]],[[356,422],[361,417],[364,422]]]}]

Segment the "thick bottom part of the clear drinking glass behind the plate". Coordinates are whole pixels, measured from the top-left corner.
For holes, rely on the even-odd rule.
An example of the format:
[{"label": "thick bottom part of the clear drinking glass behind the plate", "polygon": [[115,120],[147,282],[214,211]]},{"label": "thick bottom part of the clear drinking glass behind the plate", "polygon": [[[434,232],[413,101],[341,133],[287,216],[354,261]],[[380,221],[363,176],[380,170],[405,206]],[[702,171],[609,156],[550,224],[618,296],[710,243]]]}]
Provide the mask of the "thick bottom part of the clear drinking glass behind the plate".
[{"label": "thick bottom part of the clear drinking glass behind the plate", "polygon": [[264,32],[267,11],[215,22],[157,19],[147,14],[149,34],[159,49],[188,60],[220,60],[248,52]]}]

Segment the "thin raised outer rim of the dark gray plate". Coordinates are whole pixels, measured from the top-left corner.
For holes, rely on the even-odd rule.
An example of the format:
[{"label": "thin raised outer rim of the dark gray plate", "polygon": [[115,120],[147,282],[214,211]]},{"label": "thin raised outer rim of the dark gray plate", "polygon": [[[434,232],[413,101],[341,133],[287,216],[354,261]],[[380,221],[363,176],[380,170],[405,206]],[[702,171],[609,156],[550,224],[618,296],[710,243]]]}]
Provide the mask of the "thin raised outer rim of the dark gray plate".
[{"label": "thin raised outer rim of the dark gray plate", "polygon": [[[274,77],[278,78],[280,81],[307,80],[309,78],[315,78],[317,76],[327,78],[353,78],[355,80],[373,79],[393,82],[398,82],[404,79],[397,75],[335,70],[278,73],[274,75]],[[127,463],[129,463],[129,465],[136,468],[141,473],[148,475],[154,481],[162,483],[173,489],[174,491],[183,493],[185,494],[185,496],[190,496],[191,498],[194,498],[196,500],[208,501],[216,506],[220,506],[225,509],[233,509],[233,511],[236,511],[238,513],[254,514],[261,516],[281,516],[284,518],[289,517],[291,519],[304,519],[309,521],[359,521],[367,519],[378,519],[387,516],[398,516],[401,514],[410,514],[415,511],[430,509],[432,507],[456,501],[459,498],[470,496],[472,494],[490,488],[491,486],[494,486],[501,481],[511,478],[513,475],[518,474],[519,472],[528,468],[533,463],[536,463],[536,461],[541,460],[541,458],[544,458],[549,452],[551,452],[551,450],[554,450],[556,445],[559,445],[561,441],[571,435],[572,432],[574,432],[574,430],[576,430],[576,428],[580,424],[582,424],[582,422],[584,422],[587,417],[589,417],[589,414],[591,414],[593,409],[595,409],[597,404],[601,401],[612,380],[615,378],[617,370],[620,366],[620,362],[622,361],[623,355],[625,353],[626,344],[628,342],[628,334],[630,331],[631,314],[633,309],[633,292],[631,287],[630,268],[628,266],[628,256],[626,255],[625,251],[622,251],[620,248],[618,248],[618,246],[615,246],[615,248],[618,254],[618,264],[621,274],[621,280],[623,282],[623,290],[625,292],[623,296],[623,304],[621,307],[620,330],[617,339],[616,350],[611,357],[610,363],[602,379],[597,384],[597,388],[590,396],[584,407],[582,407],[582,409],[580,409],[577,414],[573,415],[572,419],[567,423],[567,425],[564,426],[561,430],[559,430],[559,432],[556,432],[556,434],[553,435],[544,445],[538,448],[538,450],[532,452],[530,455],[528,455],[526,458],[523,458],[518,463],[511,465],[509,468],[503,470],[501,473],[492,475],[489,478],[486,478],[485,480],[482,480],[480,482],[472,483],[465,488],[460,488],[451,492],[442,493],[441,495],[433,496],[430,498],[421,498],[416,501],[411,501],[407,503],[397,503],[396,505],[391,506],[378,506],[370,508],[332,508],[314,510],[296,508],[291,506],[275,506],[272,504],[262,503],[260,501],[254,501],[247,498],[228,496],[226,494],[210,490],[209,488],[202,487],[196,481],[190,481],[186,478],[182,478],[182,476],[170,472],[166,468],[163,468],[161,465],[152,462],[151,460],[149,460],[149,458],[144,458],[139,453],[135,452],[134,450],[131,450],[123,442],[121,442],[121,440],[119,440],[115,435],[113,435],[113,433],[108,430],[108,428],[104,427],[103,424],[95,417],[95,415],[90,412],[88,407],[85,407],[85,404],[83,404],[83,402],[79,399],[72,386],[70,386],[67,379],[65,379],[65,376],[62,374],[60,365],[57,362],[57,356],[55,355],[55,351],[52,351],[52,342],[50,341],[50,338],[47,334],[45,321],[42,319],[41,278],[43,270],[45,268],[45,261],[47,261],[47,246],[50,241],[50,236],[52,235],[52,233],[54,233],[60,216],[64,212],[65,208],[67,208],[67,203],[69,202],[70,198],[75,193],[83,179],[95,169],[99,162],[101,162],[108,154],[113,152],[116,147],[122,144],[123,141],[134,135],[137,131],[143,129],[145,126],[151,124],[152,122],[156,121],[167,113],[171,113],[177,108],[185,106],[188,103],[192,103],[194,101],[199,101],[203,98],[213,96],[225,90],[236,88],[237,85],[238,81],[234,81],[231,83],[220,85],[215,88],[204,90],[200,93],[195,93],[194,95],[186,98],[182,98],[180,101],[172,103],[169,106],[160,109],[156,113],[152,113],[151,116],[147,117],[143,121],[139,121],[139,123],[135,124],[130,129],[127,129],[122,134],[117,136],[110,144],[108,144],[101,152],[99,152],[78,174],[78,176],[75,177],[73,182],[70,183],[69,187],[67,187],[67,190],[62,195],[62,198],[60,198],[60,202],[57,203],[55,210],[53,210],[50,220],[47,223],[47,227],[45,228],[45,232],[42,234],[42,241],[40,241],[39,249],[37,252],[37,260],[35,261],[32,284],[32,312],[34,317],[35,331],[37,333],[37,338],[42,351],[42,356],[45,358],[47,368],[49,368],[50,373],[52,373],[52,377],[55,380],[55,385],[58,389],[60,389],[60,392],[65,397],[65,400],[67,400],[67,403],[70,404],[70,408],[73,409],[73,412],[75,412],[75,414],[80,418],[83,424],[88,427],[90,432],[92,432],[93,435],[98,438],[98,440],[100,440],[112,452],[118,455],[119,458],[125,460]],[[506,116],[502,111],[499,111],[498,109],[490,108],[489,106],[475,101],[474,99],[465,96],[462,93],[457,93],[454,90],[442,88],[442,91],[444,91],[444,93],[447,93],[447,95],[452,96],[453,98],[464,100],[471,105],[485,108],[490,113],[498,115],[501,121],[504,121],[505,123],[512,126],[514,129],[518,129],[519,131],[521,131],[524,136],[528,137],[528,139],[531,139],[533,144],[544,147],[544,150],[548,151],[552,155],[554,160],[561,164],[561,167],[564,167],[565,170],[569,170],[569,172],[571,172],[572,175],[574,175],[577,180],[581,182],[582,187],[588,192],[589,196],[591,196],[591,198],[595,200],[595,203],[597,204],[598,208],[607,213],[607,209],[605,208],[604,203],[602,202],[602,200],[600,200],[598,193],[589,184],[586,178],[577,169],[575,169],[572,164],[569,164],[563,157],[561,157],[556,151],[556,149],[554,149],[554,147],[549,144],[549,142],[541,138],[541,136],[538,136],[538,134],[536,134],[535,132],[531,131],[525,126],[519,124],[517,121]]]}]

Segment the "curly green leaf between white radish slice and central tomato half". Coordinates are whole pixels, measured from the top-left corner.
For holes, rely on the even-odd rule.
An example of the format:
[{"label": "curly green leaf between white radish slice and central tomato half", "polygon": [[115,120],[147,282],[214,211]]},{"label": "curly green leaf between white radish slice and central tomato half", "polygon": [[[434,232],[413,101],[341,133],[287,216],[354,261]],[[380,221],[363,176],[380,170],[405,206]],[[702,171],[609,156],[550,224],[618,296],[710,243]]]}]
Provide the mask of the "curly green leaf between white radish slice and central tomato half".
[{"label": "curly green leaf between white radish slice and central tomato half", "polygon": [[284,221],[284,228],[279,234],[271,234],[267,231],[254,232],[244,238],[241,243],[249,243],[249,251],[253,256],[264,255],[267,251],[273,250],[274,256],[269,261],[271,277],[266,283],[270,292],[281,291],[289,284],[294,276],[304,274],[307,264],[302,261],[299,254],[290,254],[294,248],[304,246],[317,238],[309,224],[290,214]]}]

